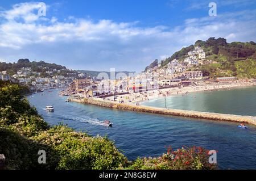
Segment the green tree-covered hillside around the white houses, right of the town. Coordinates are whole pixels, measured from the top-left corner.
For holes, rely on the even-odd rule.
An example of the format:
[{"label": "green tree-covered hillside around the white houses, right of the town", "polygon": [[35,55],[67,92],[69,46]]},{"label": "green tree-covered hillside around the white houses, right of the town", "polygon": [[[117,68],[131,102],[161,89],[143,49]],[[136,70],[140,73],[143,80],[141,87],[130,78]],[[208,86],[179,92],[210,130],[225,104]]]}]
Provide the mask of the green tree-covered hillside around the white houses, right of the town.
[{"label": "green tree-covered hillside around the white houses, right of the town", "polygon": [[213,64],[198,65],[193,68],[202,70],[204,75],[212,78],[225,76],[256,78],[256,43],[254,41],[227,43],[226,39],[221,37],[218,39],[210,37],[207,41],[197,40],[194,45],[182,48],[171,57],[162,60],[161,67],[166,66],[175,58],[183,61],[195,46],[203,48],[206,59],[213,61]]}]

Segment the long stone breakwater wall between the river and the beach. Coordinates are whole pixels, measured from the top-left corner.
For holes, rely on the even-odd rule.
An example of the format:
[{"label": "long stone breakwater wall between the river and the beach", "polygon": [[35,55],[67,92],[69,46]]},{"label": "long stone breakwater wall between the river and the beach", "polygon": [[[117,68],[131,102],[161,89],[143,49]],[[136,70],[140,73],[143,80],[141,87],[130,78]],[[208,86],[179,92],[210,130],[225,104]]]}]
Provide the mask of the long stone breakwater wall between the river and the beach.
[{"label": "long stone breakwater wall between the river and the beach", "polygon": [[110,101],[96,100],[96,99],[70,99],[72,102],[92,104],[95,106],[112,108],[117,110],[156,113],[170,116],[191,117],[195,119],[207,119],[217,121],[232,121],[238,123],[246,123],[256,125],[256,117],[254,116],[239,116],[229,115],[223,113],[200,112],[200,111],[187,111],[187,110],[167,110],[164,108],[148,107],[148,106],[135,106],[131,104],[120,104]]}]

